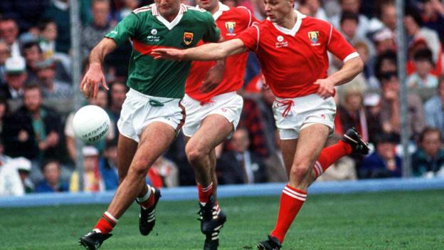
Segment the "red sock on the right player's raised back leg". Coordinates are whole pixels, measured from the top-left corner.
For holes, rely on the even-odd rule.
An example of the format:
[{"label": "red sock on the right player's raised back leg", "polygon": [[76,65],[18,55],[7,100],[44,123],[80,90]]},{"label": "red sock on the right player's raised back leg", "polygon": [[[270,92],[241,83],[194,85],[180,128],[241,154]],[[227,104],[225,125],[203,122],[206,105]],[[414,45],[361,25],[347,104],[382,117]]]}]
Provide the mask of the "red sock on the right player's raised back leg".
[{"label": "red sock on the right player's raised back leg", "polygon": [[314,173],[315,177],[319,177],[322,173],[330,167],[333,162],[339,160],[339,158],[350,155],[351,154],[351,146],[342,140],[337,142],[337,144],[324,148],[319,157],[317,158],[317,162],[314,163]]}]

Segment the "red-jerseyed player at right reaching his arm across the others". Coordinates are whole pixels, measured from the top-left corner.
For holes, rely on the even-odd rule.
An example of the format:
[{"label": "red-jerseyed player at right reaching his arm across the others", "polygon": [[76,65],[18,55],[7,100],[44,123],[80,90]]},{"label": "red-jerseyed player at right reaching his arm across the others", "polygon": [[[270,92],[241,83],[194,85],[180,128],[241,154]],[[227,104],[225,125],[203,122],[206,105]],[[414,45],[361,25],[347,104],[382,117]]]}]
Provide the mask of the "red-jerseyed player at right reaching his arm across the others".
[{"label": "red-jerseyed player at right reaching his arm across the others", "polygon": [[[289,177],[282,190],[275,229],[259,249],[280,249],[284,236],[307,197],[307,187],[329,165],[351,152],[368,153],[366,142],[349,130],[342,141],[324,147],[334,129],[334,86],[347,83],[362,71],[354,48],[327,22],[293,11],[294,0],[265,0],[268,19],[253,24],[237,38],[183,51],[157,49],[157,58],[218,60],[255,51],[265,80],[277,96],[273,104]],[[344,66],[327,75],[327,51]]]}]

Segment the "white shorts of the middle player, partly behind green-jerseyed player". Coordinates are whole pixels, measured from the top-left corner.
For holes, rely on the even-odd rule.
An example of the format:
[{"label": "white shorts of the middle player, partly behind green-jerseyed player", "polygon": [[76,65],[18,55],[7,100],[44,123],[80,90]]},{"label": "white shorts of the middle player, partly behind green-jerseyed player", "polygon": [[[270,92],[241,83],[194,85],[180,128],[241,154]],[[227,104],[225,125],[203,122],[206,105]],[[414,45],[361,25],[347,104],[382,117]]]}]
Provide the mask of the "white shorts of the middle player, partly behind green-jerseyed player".
[{"label": "white shorts of the middle player, partly behind green-jerseyed player", "polygon": [[202,120],[213,114],[222,115],[228,122],[233,123],[233,129],[236,130],[243,107],[243,99],[236,92],[216,95],[211,98],[210,103],[203,105],[199,100],[194,100],[189,95],[185,95],[181,103],[186,110],[186,120],[182,131],[187,137],[193,136],[201,127]]}]

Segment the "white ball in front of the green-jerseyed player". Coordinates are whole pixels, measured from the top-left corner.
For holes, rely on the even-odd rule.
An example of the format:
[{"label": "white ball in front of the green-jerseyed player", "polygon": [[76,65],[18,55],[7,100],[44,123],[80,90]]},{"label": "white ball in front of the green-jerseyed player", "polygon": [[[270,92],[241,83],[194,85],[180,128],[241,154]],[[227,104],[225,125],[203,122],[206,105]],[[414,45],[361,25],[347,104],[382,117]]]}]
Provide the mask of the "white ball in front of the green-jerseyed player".
[{"label": "white ball in front of the green-jerseyed player", "polygon": [[73,128],[80,140],[95,143],[106,137],[110,130],[110,117],[99,106],[87,105],[75,113]]}]

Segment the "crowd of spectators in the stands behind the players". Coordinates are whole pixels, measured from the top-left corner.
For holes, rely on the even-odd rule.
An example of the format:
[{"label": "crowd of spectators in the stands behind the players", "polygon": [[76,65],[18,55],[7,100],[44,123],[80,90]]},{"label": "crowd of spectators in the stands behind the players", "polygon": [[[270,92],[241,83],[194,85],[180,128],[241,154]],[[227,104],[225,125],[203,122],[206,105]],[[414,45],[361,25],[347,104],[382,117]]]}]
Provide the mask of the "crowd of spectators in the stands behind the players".
[{"label": "crowd of spectators in the stands behind the players", "polygon": [[[83,69],[89,51],[133,9],[152,1],[79,0]],[[193,0],[184,4],[195,5]],[[262,0],[223,0],[245,6],[266,18]],[[70,75],[70,6],[68,0],[0,1],[0,196],[29,192],[97,192],[116,189],[117,120],[125,100],[128,41],[105,59],[110,90],[85,100],[110,115],[107,137],[84,145],[83,176],[75,170]],[[400,80],[396,63],[394,1],[296,0],[295,9],[337,28],[360,54],[364,71],[337,88],[334,143],[356,127],[373,146],[366,157],[344,157],[319,178],[342,180],[401,177]],[[406,1],[408,132],[412,175],[444,177],[444,3]],[[342,66],[330,57],[329,73]],[[280,141],[273,118],[271,91],[265,87],[257,58],[248,57],[243,113],[232,137],[217,147],[220,184],[285,182]],[[194,173],[179,133],[170,149],[154,163],[147,181],[154,187],[194,185]],[[84,188],[80,190],[79,179]]]}]

